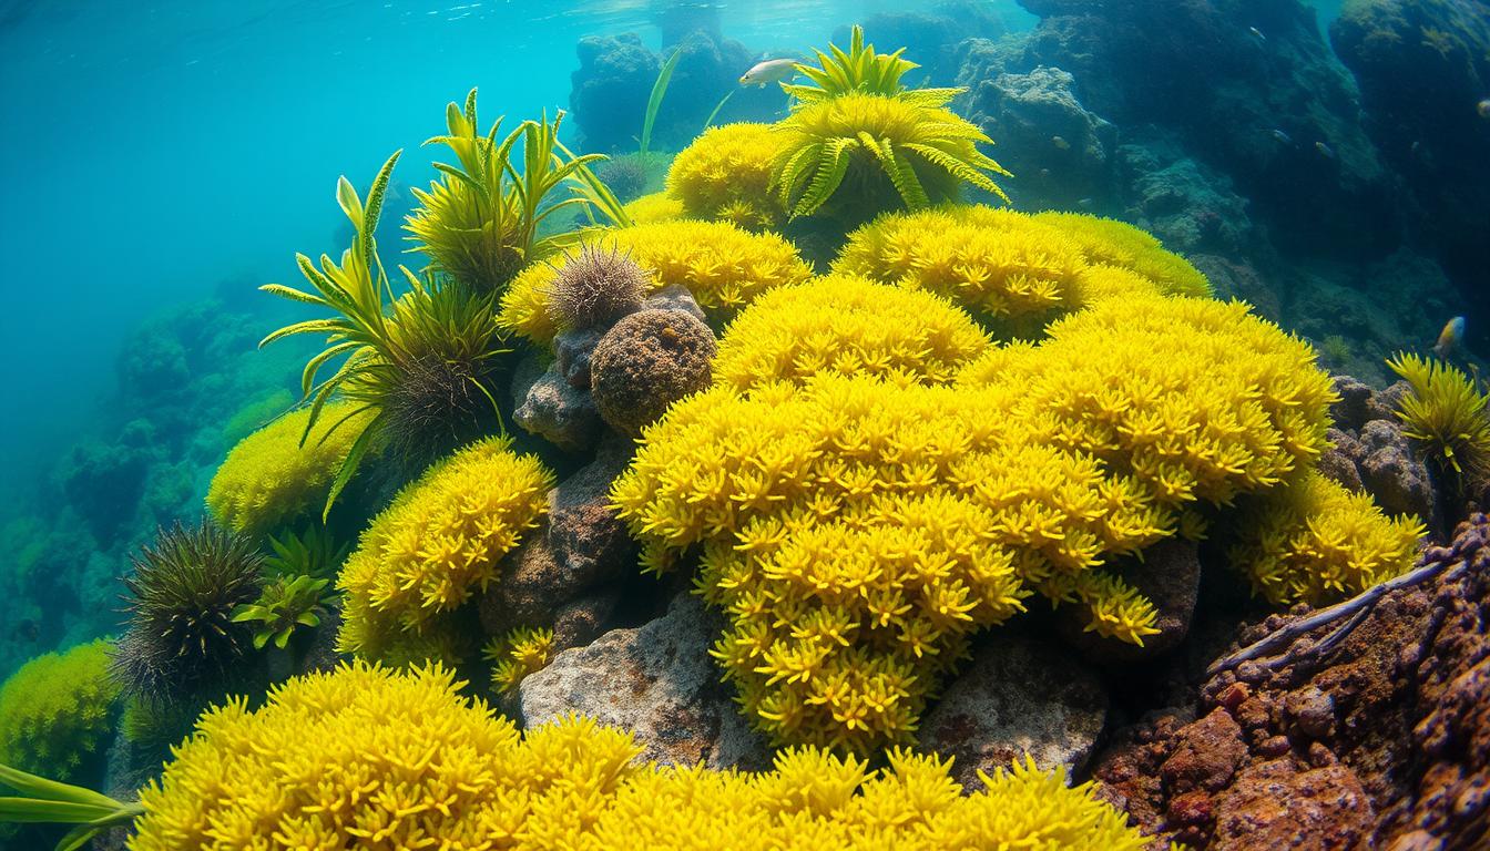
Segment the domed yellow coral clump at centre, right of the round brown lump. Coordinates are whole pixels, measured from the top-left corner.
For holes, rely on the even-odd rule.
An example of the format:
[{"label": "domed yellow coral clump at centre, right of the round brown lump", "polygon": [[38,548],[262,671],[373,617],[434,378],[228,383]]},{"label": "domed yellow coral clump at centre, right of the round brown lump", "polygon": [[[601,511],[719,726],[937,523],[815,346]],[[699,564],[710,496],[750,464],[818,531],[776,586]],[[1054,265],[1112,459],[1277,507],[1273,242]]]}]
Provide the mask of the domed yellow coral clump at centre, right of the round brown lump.
[{"label": "domed yellow coral clump at centre, right of the round brown lump", "polygon": [[730,325],[714,380],[745,390],[831,371],[946,383],[986,347],[977,325],[943,298],[836,274],[755,300]]}]

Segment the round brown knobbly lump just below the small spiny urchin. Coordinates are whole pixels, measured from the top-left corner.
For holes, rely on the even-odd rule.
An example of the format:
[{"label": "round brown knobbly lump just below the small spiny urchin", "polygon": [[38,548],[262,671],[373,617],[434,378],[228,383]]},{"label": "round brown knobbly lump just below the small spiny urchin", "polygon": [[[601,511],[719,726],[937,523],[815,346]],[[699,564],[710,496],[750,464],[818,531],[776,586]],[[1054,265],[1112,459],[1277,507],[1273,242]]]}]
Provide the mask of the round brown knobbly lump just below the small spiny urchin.
[{"label": "round brown knobbly lump just below the small spiny urchin", "polygon": [[714,331],[687,311],[632,313],[595,347],[590,395],[611,428],[638,435],[668,405],[709,386],[714,353]]}]

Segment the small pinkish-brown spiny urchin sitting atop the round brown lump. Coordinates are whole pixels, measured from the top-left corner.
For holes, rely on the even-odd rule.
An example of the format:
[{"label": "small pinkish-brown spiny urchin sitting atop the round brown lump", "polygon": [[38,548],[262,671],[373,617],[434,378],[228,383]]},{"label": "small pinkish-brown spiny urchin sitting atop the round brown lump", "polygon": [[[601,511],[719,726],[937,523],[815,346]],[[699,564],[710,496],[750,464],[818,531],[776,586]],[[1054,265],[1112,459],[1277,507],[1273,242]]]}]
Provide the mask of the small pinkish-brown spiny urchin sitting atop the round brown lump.
[{"label": "small pinkish-brown spiny urchin sitting atop the round brown lump", "polygon": [[642,306],[650,289],[647,270],[630,253],[614,247],[584,246],[554,267],[548,314],[560,328],[596,328]]}]

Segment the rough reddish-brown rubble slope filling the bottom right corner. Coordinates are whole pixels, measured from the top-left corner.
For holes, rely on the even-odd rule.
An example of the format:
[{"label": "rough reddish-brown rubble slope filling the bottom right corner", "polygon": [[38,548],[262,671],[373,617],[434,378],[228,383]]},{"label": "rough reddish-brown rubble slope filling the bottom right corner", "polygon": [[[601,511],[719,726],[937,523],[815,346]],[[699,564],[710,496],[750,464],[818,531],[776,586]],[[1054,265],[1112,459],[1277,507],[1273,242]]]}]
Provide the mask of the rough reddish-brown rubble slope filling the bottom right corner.
[{"label": "rough reddish-brown rubble slope filling the bottom right corner", "polygon": [[1095,760],[1103,794],[1195,848],[1487,847],[1490,519],[1427,562],[1445,571],[1384,596],[1332,653],[1302,653],[1322,627],[1277,665],[1210,678],[1195,706],[1118,730]]}]

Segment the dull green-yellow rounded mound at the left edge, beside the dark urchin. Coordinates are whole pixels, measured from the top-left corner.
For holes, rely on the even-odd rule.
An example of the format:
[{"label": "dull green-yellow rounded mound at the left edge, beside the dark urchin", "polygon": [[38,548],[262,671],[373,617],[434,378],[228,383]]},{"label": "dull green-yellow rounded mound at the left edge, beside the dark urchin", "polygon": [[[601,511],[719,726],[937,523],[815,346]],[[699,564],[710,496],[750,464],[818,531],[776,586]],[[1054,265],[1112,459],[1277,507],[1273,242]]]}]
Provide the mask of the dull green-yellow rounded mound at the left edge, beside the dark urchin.
[{"label": "dull green-yellow rounded mound at the left edge, beside the dark urchin", "polygon": [[109,641],[46,653],[0,686],[0,763],[60,781],[113,733],[119,686],[109,678]]}]

